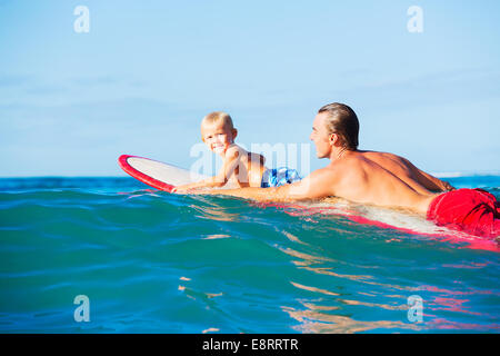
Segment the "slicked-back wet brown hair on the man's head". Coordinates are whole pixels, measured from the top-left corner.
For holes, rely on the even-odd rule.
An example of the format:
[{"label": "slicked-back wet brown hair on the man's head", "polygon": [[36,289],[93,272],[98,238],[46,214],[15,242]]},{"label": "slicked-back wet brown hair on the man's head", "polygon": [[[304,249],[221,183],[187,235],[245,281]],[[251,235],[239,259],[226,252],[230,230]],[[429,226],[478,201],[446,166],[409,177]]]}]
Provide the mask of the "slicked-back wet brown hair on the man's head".
[{"label": "slicked-back wet brown hair on the man's head", "polygon": [[342,146],[349,150],[357,150],[359,140],[359,121],[354,110],[344,103],[332,102],[323,106],[318,113],[327,113],[326,125],[328,134],[339,135]]}]

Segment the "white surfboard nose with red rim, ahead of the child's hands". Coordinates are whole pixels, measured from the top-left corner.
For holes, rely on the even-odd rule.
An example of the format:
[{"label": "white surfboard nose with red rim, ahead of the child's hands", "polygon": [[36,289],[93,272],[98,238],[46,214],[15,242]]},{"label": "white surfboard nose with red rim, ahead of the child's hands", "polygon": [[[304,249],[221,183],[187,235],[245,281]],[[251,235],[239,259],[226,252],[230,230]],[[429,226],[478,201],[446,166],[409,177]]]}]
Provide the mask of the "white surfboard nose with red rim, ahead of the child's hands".
[{"label": "white surfboard nose with red rim, ahead of the child's hands", "polygon": [[176,186],[207,178],[173,165],[139,156],[121,155],[118,158],[118,164],[133,178],[168,192],[172,192]]}]

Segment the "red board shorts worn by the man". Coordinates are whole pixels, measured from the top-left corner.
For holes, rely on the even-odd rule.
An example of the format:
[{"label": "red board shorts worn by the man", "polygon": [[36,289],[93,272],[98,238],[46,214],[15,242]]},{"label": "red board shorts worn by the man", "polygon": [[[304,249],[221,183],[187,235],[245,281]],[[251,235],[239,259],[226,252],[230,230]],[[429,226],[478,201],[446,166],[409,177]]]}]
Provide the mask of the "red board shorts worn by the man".
[{"label": "red board shorts worn by the man", "polygon": [[483,189],[457,189],[434,198],[427,219],[438,226],[494,238],[500,236],[500,201]]}]

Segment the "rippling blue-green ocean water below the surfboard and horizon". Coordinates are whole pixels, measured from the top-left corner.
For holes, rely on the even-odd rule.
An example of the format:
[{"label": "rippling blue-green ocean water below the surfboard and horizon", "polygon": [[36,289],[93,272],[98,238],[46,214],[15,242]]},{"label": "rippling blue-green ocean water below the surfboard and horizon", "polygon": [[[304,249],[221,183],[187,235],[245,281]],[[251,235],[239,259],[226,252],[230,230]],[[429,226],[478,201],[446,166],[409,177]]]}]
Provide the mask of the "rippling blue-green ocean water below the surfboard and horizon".
[{"label": "rippling blue-green ocean water below the surfboard and horizon", "polygon": [[354,208],[0,179],[0,332],[499,333],[497,243]]}]

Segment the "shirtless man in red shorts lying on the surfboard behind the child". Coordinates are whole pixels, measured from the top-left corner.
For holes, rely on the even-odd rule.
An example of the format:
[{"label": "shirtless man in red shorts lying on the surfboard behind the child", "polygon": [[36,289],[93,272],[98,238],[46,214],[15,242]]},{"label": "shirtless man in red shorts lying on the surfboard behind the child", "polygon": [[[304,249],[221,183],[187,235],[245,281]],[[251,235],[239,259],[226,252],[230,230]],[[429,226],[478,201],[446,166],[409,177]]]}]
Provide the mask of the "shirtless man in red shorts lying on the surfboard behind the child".
[{"label": "shirtless man in red shorts lying on the surfboard behind the child", "polygon": [[[500,235],[500,205],[480,189],[454,190],[409,160],[387,152],[358,150],[359,121],[342,103],[323,106],[312,123],[318,158],[330,164],[301,181],[278,188],[200,191],[256,200],[291,201],[336,196],[359,204],[398,207],[427,215],[438,225],[468,233]],[[446,194],[437,195],[436,192]]]}]

